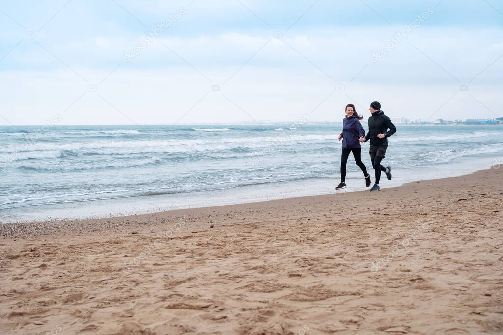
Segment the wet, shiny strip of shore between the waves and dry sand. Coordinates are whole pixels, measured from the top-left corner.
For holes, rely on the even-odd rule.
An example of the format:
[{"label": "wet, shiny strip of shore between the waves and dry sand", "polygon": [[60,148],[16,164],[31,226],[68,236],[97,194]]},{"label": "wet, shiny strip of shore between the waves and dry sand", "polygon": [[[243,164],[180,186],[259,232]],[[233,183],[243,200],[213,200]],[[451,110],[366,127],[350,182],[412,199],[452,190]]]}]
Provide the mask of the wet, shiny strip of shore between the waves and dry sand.
[{"label": "wet, shiny strip of shore between the waves and dry sand", "polygon": [[[470,174],[494,165],[495,161],[494,154],[490,153],[485,156],[462,157],[456,163],[395,168],[393,169],[393,179],[391,181],[384,180],[384,187],[399,187],[415,181]],[[338,175],[311,177],[208,191],[134,195],[100,200],[30,205],[3,210],[0,225],[118,218],[180,209],[208,208],[220,205],[368,190],[362,184],[364,179],[360,176],[359,171],[349,171],[347,175],[348,188],[336,191],[335,188],[340,181],[339,179]]]}]

